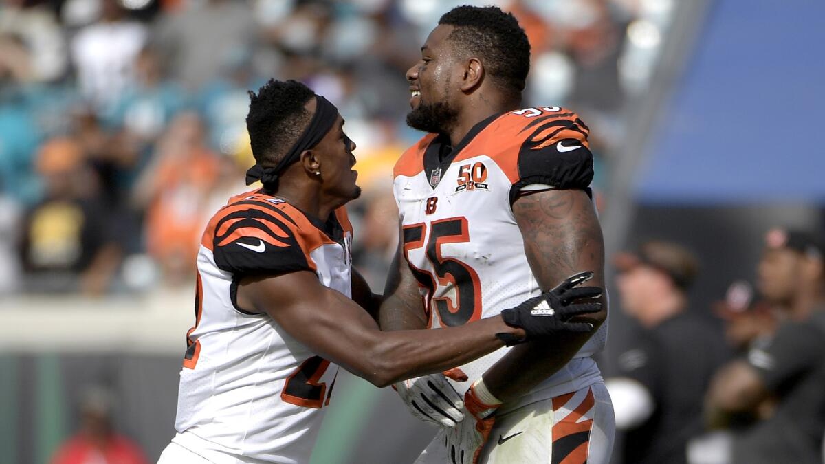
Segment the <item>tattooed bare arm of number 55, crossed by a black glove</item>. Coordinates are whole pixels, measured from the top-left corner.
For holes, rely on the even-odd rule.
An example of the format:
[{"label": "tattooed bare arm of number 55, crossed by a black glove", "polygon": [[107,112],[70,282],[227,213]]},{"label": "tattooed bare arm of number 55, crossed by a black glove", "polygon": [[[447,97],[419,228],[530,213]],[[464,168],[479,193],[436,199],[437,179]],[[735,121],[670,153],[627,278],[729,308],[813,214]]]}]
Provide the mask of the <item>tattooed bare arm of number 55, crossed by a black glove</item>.
[{"label": "tattooed bare arm of number 55, crossed by a black glove", "polygon": [[[589,284],[605,286],[604,240],[592,201],[582,190],[549,190],[521,196],[513,205],[524,238],[524,251],[542,290],[548,290],[578,271],[593,271]],[[577,320],[601,325],[602,310]],[[562,334],[554,339],[524,343],[484,373],[484,383],[499,400],[514,400],[564,367],[596,330]]]}]

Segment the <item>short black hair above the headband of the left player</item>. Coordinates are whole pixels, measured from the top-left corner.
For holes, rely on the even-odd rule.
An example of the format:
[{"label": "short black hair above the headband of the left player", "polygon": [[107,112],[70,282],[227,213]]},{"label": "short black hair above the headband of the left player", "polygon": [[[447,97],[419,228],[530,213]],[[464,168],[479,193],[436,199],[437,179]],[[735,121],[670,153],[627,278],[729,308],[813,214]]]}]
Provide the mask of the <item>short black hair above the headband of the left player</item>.
[{"label": "short black hair above the headband of the left player", "polygon": [[312,119],[304,106],[315,93],[297,81],[270,81],[249,92],[247,130],[252,156],[264,168],[273,168],[298,141]]}]

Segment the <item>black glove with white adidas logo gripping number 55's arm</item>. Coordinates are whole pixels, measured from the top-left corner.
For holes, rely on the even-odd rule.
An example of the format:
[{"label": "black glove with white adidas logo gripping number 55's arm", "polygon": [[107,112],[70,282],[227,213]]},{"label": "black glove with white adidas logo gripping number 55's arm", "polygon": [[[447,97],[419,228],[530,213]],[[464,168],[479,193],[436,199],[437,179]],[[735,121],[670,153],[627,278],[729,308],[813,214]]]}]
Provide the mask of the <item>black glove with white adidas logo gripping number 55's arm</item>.
[{"label": "black glove with white adidas logo gripping number 55's arm", "polygon": [[565,279],[553,290],[544,291],[540,296],[534,296],[515,308],[503,310],[504,323],[511,327],[524,329],[526,335],[524,339],[517,339],[512,334],[496,334],[496,336],[509,347],[534,339],[543,339],[560,332],[592,331],[593,324],[569,322],[574,316],[592,314],[601,310],[601,303],[573,304],[575,301],[601,296],[601,288],[597,286],[573,288],[592,277],[592,272],[578,272]]}]

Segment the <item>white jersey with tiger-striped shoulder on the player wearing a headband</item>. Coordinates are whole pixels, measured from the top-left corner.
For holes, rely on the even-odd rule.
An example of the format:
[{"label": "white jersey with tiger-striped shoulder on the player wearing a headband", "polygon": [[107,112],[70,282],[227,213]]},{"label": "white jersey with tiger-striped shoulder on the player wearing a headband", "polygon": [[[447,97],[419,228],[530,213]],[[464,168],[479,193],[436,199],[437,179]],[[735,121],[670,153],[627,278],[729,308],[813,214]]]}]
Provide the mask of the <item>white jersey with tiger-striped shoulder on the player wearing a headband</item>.
[{"label": "white jersey with tiger-striped shoulder on the player wearing a headband", "polygon": [[238,307],[238,281],[306,270],[351,296],[351,239],[343,207],[324,224],[261,192],[214,215],[197,258],[173,442],[218,464],[309,462],[338,367],[269,315]]}]

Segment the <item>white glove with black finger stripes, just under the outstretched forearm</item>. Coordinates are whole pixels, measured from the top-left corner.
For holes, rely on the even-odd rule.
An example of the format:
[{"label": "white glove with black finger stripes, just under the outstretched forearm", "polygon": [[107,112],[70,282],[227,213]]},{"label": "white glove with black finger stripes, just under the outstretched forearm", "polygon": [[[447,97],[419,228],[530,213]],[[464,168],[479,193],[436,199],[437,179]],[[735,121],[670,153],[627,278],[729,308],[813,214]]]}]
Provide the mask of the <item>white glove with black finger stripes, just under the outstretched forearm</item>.
[{"label": "white glove with black finger stripes, just under the outstretched forearm", "polygon": [[407,409],[422,421],[441,427],[455,427],[464,420],[461,410],[464,400],[447,381],[447,376],[456,381],[466,381],[467,376],[459,369],[450,369],[443,374],[431,374],[393,385]]}]

